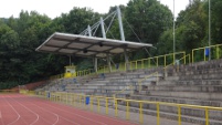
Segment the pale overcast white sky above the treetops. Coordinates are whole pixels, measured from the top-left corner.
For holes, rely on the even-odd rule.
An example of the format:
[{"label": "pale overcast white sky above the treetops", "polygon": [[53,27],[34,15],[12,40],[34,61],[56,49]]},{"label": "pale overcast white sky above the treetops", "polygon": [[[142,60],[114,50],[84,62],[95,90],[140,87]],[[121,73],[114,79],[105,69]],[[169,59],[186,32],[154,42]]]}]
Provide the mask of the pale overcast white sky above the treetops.
[{"label": "pale overcast white sky above the treetops", "polygon": [[[127,4],[129,0],[0,0],[0,18],[19,17],[21,10],[38,11],[54,19],[61,13],[67,13],[73,7],[91,8],[95,12],[106,13],[109,7]],[[159,0],[173,10],[173,0]],[[175,0],[176,17],[184,10],[189,0]]]}]

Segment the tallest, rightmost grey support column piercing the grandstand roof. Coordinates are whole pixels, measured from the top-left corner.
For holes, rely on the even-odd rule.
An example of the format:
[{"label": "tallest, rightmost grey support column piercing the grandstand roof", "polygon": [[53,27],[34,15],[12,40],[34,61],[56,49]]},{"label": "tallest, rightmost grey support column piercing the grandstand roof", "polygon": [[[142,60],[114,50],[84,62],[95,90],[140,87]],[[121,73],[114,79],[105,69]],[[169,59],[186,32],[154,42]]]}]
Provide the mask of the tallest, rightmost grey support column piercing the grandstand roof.
[{"label": "tallest, rightmost grey support column piercing the grandstand roof", "polygon": [[[120,11],[119,7],[117,7],[116,10],[117,10],[117,15],[118,15],[118,23],[119,23],[121,41],[125,41],[124,25],[123,25],[123,21],[121,21],[121,11]],[[127,70],[129,70],[129,61],[128,61],[128,55],[127,55],[126,49],[124,49],[124,56],[125,56],[126,71],[127,71]]]}]

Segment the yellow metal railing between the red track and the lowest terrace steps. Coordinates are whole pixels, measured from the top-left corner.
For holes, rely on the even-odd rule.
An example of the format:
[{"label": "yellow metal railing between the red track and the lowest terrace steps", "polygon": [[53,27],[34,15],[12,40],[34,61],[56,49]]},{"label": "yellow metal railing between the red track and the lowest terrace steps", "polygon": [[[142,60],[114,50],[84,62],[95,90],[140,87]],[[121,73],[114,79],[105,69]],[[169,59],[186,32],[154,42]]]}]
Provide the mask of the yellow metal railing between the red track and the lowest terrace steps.
[{"label": "yellow metal railing between the red track and the lowest terrace steps", "polygon": [[[86,103],[86,97],[89,97],[89,102]],[[96,111],[102,113],[102,107],[104,108],[104,113],[109,115],[109,111],[115,111],[115,116],[119,116],[118,112],[120,106],[125,106],[126,119],[129,119],[130,116],[130,104],[138,105],[139,112],[139,123],[144,124],[144,112],[147,107],[144,105],[155,105],[156,106],[156,117],[157,117],[157,125],[160,125],[160,106],[170,106],[177,108],[177,121],[178,125],[181,125],[181,117],[182,117],[182,110],[183,108],[192,108],[192,110],[202,110],[205,114],[204,124],[210,125],[210,111],[218,111],[222,112],[222,107],[212,107],[212,106],[199,106],[199,105],[189,105],[189,104],[176,104],[176,103],[165,103],[165,102],[154,102],[154,101],[136,101],[136,100],[126,100],[126,98],[116,98],[116,97],[104,97],[104,96],[94,96],[94,95],[82,95],[75,93],[63,93],[63,92],[51,92],[51,96],[45,96],[45,98],[54,102],[60,102],[68,105],[73,105],[76,107],[82,107],[89,111]],[[121,103],[119,103],[121,102]],[[109,105],[113,105],[110,107]],[[199,117],[200,118],[200,117]]]}]

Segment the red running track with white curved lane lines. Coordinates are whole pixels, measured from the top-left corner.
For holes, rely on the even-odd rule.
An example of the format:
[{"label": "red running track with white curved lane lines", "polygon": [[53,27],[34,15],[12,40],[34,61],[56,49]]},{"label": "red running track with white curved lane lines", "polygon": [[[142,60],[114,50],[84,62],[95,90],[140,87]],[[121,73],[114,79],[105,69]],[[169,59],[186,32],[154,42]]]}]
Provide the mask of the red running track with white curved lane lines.
[{"label": "red running track with white curved lane lines", "polygon": [[0,94],[0,125],[136,125],[22,94]]}]

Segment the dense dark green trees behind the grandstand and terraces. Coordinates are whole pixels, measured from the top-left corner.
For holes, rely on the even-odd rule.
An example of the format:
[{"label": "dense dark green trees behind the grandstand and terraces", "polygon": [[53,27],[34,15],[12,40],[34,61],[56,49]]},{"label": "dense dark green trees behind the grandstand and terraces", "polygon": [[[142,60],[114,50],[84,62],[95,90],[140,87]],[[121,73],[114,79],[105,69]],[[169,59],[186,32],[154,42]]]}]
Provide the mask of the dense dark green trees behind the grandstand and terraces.
[{"label": "dense dark green trees behind the grandstand and terraces", "polygon": [[[157,0],[130,0],[120,6],[127,41],[151,43],[157,49],[129,53],[130,60],[172,52],[173,15],[167,6]],[[0,19],[0,90],[47,79],[64,72],[70,56],[35,52],[35,49],[54,32],[78,34],[94,24],[102,14],[87,8],[73,8],[55,19],[36,11],[21,11],[19,18]],[[193,0],[176,20],[176,50],[190,52],[208,45],[209,2]],[[222,0],[211,0],[212,44],[222,40]],[[135,34],[136,33],[136,34]],[[98,37],[102,34],[97,33]],[[107,32],[109,39],[120,39],[118,21]],[[123,55],[113,58],[124,61]],[[93,67],[92,59],[72,58],[77,70]],[[101,61],[103,64],[103,61]]]}]

